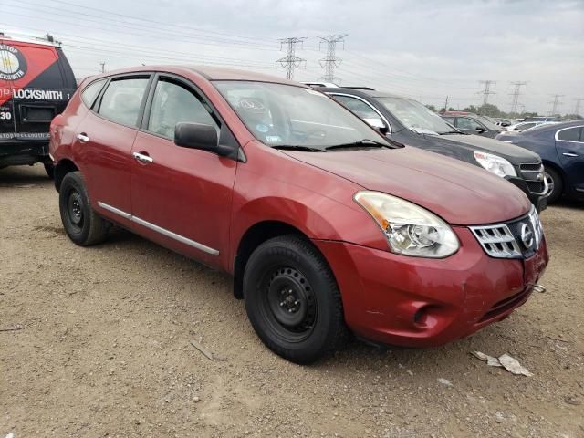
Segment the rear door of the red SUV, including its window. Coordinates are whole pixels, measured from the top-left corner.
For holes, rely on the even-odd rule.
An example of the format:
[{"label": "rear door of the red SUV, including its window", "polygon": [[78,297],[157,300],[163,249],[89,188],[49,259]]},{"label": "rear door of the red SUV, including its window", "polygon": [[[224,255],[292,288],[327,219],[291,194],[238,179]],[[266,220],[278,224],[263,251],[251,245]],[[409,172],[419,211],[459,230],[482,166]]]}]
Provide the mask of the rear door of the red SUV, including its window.
[{"label": "rear door of the red SUV, including its window", "polygon": [[131,212],[131,147],[150,80],[150,74],[110,78],[76,130],[74,153],[91,203],[120,223]]}]

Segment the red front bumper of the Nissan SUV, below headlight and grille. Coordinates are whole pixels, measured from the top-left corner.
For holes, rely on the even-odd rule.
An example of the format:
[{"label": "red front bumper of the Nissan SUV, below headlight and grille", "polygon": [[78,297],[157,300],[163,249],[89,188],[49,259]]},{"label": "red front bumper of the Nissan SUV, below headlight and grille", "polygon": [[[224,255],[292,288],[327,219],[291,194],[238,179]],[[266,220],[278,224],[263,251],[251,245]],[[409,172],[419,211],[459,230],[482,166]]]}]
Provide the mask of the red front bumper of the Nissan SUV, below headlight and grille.
[{"label": "red front bumper of the Nissan SUV, below headlight and grille", "polygon": [[454,230],[461,248],[444,259],[314,241],[337,278],[349,328],[383,344],[434,347],[525,303],[547,266],[545,239],[526,260],[500,259],[486,255],[468,228]]}]

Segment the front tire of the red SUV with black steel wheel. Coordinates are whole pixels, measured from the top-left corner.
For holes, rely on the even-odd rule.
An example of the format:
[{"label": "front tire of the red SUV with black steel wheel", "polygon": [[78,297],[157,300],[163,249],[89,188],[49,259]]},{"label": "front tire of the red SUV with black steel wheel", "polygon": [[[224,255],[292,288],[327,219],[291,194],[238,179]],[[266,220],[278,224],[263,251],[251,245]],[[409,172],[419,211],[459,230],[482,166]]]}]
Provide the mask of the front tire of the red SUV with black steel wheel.
[{"label": "front tire of the red SUV with black steel wheel", "polygon": [[292,362],[314,362],[347,339],[337,282],[315,246],[299,236],[278,236],[255,249],[245,266],[244,300],[257,336]]}]

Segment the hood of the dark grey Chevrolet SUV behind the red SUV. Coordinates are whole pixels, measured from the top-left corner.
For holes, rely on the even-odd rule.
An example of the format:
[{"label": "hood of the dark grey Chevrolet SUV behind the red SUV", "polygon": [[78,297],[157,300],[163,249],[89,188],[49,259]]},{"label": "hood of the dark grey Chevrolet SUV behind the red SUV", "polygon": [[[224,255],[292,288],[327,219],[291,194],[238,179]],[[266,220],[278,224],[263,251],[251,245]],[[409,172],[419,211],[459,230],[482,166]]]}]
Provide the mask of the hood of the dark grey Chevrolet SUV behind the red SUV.
[{"label": "hood of the dark grey Chevrolet SUV behind the red SUV", "polygon": [[473,151],[494,153],[495,155],[503,157],[513,164],[541,162],[541,158],[539,158],[537,153],[527,151],[527,149],[520,148],[519,146],[515,146],[513,144],[505,143],[495,139],[489,139],[480,135],[447,134],[433,136],[433,139],[436,139],[437,141],[442,139],[447,141],[454,141],[465,147],[471,153]]}]

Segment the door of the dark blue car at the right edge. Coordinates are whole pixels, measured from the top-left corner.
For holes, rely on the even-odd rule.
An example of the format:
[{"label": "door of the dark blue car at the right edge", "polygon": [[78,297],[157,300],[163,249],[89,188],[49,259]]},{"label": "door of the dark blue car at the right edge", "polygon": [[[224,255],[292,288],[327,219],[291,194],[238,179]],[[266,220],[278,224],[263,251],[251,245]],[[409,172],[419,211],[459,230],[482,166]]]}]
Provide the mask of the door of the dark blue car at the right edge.
[{"label": "door of the dark blue car at the right edge", "polygon": [[570,185],[584,192],[584,125],[558,130],[556,151]]}]

